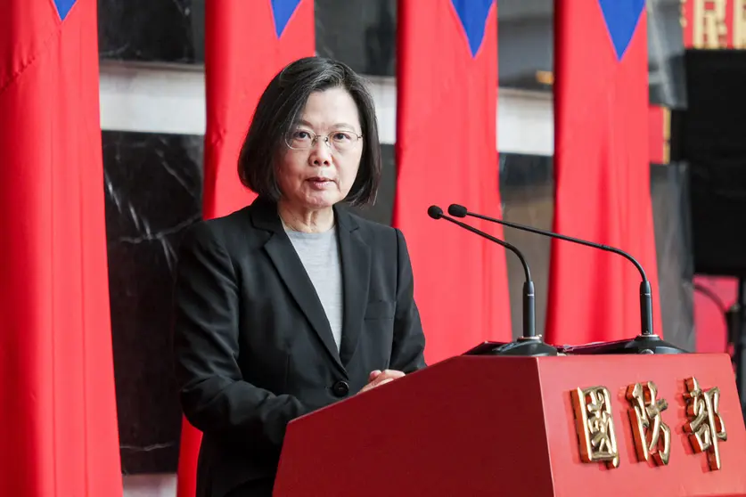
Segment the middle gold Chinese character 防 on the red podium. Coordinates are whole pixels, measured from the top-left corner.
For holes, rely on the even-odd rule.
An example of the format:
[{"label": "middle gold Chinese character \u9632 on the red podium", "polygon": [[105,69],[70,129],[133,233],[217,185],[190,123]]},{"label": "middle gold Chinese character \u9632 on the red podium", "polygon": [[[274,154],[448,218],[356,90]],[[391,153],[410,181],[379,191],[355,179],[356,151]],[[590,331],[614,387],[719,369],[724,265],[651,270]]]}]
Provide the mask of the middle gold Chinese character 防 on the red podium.
[{"label": "middle gold Chinese character \u9632 on the red podium", "polygon": [[635,438],[637,459],[652,460],[656,464],[668,464],[671,452],[671,428],[663,422],[661,412],[668,409],[664,399],[656,400],[658,388],[648,381],[646,386],[635,383],[627,387],[627,400],[632,404],[629,420]]}]

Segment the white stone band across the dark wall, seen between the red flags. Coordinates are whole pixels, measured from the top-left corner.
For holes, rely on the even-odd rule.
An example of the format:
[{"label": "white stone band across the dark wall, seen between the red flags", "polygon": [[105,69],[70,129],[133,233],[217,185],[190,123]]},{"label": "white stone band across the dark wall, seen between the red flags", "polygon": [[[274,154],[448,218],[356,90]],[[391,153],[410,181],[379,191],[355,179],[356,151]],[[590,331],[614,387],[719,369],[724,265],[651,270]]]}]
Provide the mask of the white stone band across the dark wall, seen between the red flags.
[{"label": "white stone band across the dark wall, seen between the red flags", "polygon": [[[394,77],[368,77],[381,143],[396,141]],[[502,153],[553,155],[552,94],[500,89],[496,143]],[[101,66],[104,130],[204,134],[205,77],[201,66],[104,61]]]}]

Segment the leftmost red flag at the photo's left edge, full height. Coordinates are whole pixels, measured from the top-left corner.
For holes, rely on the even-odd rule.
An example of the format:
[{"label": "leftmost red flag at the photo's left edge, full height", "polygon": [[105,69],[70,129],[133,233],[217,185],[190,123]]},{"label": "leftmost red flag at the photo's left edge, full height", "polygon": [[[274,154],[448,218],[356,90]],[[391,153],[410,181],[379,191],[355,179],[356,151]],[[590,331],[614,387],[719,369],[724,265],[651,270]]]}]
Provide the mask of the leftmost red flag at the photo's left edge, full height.
[{"label": "leftmost red flag at the photo's left edge, full height", "polygon": [[0,15],[0,495],[122,494],[95,0]]}]

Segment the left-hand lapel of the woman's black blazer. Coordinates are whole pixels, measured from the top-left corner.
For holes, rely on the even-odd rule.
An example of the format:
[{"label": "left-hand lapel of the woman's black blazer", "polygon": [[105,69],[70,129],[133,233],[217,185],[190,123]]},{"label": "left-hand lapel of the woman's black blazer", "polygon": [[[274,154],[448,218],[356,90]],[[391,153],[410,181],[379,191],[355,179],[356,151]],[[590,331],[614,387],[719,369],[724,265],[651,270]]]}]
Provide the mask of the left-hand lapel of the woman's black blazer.
[{"label": "left-hand lapel of the woman's black blazer", "polygon": [[[258,202],[256,200],[255,202]],[[277,273],[283,279],[285,286],[298,306],[306,315],[311,327],[324,343],[324,348],[332,357],[332,361],[338,366],[340,372],[347,378],[347,371],[342,366],[340,354],[332,336],[332,328],[326,319],[324,307],[316,294],[316,289],[311,279],[308,278],[306,268],[300,262],[300,258],[292,246],[291,240],[284,232],[283,224],[277,215],[274,204],[262,202],[254,212],[254,224],[262,229],[273,232],[264,246],[267,255],[275,265]]]}]

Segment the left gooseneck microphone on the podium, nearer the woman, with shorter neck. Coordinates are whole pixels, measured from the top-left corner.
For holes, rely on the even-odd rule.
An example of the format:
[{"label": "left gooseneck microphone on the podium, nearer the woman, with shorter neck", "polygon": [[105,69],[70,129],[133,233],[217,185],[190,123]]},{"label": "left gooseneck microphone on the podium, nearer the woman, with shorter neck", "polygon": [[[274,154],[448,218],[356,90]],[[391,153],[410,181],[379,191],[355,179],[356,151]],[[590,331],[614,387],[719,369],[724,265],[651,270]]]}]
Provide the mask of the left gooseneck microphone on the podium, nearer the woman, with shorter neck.
[{"label": "left gooseneck microphone on the podium, nearer the woman, with shorter neck", "polygon": [[537,337],[536,294],[534,292],[534,281],[531,280],[531,270],[529,269],[529,264],[526,262],[526,258],[523,257],[521,250],[515,248],[507,241],[495,238],[489,233],[482,232],[469,224],[456,221],[453,217],[446,216],[443,214],[443,209],[438,206],[430,206],[430,208],[428,208],[428,216],[436,220],[445,219],[450,223],[462,227],[464,230],[477,234],[487,240],[494,241],[497,245],[501,245],[512,251],[512,253],[518,256],[521,260],[523,273],[526,276],[526,281],[523,282],[523,336],[518,340],[507,344],[485,342],[480,344],[480,346],[472,348],[466,354],[557,355],[558,353],[555,347],[546,345],[541,337]]}]

